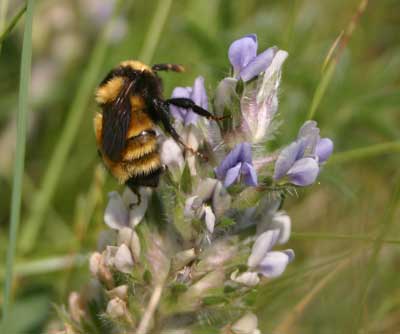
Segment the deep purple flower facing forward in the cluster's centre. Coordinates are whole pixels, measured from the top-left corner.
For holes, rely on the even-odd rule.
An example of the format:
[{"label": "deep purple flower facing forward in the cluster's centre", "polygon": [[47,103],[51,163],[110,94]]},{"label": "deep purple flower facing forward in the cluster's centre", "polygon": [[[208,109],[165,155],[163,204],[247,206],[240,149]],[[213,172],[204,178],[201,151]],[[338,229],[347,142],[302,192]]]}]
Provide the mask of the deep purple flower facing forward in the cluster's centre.
[{"label": "deep purple flower facing forward in the cluster's centre", "polygon": [[251,145],[249,143],[237,144],[215,169],[215,174],[218,179],[224,180],[226,188],[235,182],[240,175],[243,175],[244,182],[247,185],[256,186],[257,173],[251,158]]}]

